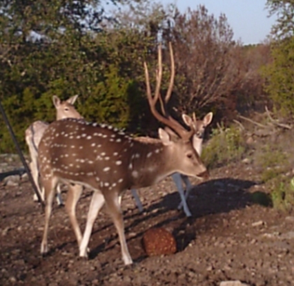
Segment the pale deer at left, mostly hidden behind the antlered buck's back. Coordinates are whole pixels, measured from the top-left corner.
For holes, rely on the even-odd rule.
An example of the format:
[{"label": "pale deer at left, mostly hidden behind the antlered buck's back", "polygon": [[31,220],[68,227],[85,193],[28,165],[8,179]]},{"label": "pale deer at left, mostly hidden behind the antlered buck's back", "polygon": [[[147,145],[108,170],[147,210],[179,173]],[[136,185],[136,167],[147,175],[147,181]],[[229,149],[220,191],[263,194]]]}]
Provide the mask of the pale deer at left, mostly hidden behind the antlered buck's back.
[{"label": "pale deer at left, mostly hidden behind the antlered buck's back", "polygon": [[[73,117],[73,118],[82,118],[81,115],[75,109],[75,101],[77,100],[78,95],[74,95],[68,98],[65,101],[61,101],[57,95],[53,95],[52,102],[56,108],[56,120],[62,120],[64,118]],[[44,200],[44,192],[41,190],[41,186],[39,184],[39,169],[37,165],[38,158],[38,146],[41,141],[41,137],[45,132],[46,128],[48,128],[49,124],[43,121],[35,121],[26,129],[26,144],[28,145],[28,150],[30,152],[30,171],[32,172],[32,178],[36,184],[37,190],[39,194]],[[37,194],[34,195],[34,200],[38,200]],[[57,186],[57,203],[63,204],[61,198],[61,189],[60,186]]]}]

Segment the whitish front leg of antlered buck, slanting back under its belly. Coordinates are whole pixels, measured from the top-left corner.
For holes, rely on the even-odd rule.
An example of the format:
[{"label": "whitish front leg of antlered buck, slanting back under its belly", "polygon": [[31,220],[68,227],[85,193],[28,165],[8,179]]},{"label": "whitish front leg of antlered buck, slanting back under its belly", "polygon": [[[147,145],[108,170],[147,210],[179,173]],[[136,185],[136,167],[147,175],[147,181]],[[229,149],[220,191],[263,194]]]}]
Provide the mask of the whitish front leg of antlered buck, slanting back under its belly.
[{"label": "whitish front leg of antlered buck, slanting back under its belly", "polygon": [[90,202],[90,208],[88,211],[88,218],[86,222],[84,236],[81,240],[81,244],[79,245],[79,256],[81,257],[88,257],[87,249],[90,240],[90,235],[92,232],[92,227],[101,207],[103,207],[104,205],[104,202],[105,199],[102,193],[100,193],[100,191],[95,190],[92,196],[92,200]]}]

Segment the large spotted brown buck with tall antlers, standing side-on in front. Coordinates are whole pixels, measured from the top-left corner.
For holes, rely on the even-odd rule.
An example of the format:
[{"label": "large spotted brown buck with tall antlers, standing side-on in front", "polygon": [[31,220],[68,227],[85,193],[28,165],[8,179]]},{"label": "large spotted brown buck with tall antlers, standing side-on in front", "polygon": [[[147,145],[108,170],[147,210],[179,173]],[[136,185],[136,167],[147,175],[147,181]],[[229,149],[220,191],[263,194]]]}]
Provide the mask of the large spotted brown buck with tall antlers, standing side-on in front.
[{"label": "large spotted brown buck with tall antlers, standing side-on in front", "polygon": [[[170,53],[172,48],[170,45]],[[194,131],[187,131],[170,115],[161,115],[155,108],[161,84],[161,46],[158,52],[159,72],[155,96],[151,95],[148,68],[144,63],[148,103],[151,112],[166,128],[159,128],[159,139],[140,142],[117,128],[106,124],[66,119],[53,122],[39,144],[41,182],[45,188],[46,210],[41,254],[48,251],[48,228],[52,200],[59,182],[70,186],[66,205],[69,216],[75,215],[75,205],[81,187],[93,190],[84,236],[79,237],[79,225],[70,217],[79,244],[79,256],[87,257],[92,226],[99,210],[106,204],[117,229],[121,254],[126,265],[133,263],[124,234],[124,221],[119,196],[127,189],[148,187],[175,172],[208,178],[208,171],[193,148]],[[173,81],[170,81],[173,86]],[[73,223],[75,222],[75,223]]]}]

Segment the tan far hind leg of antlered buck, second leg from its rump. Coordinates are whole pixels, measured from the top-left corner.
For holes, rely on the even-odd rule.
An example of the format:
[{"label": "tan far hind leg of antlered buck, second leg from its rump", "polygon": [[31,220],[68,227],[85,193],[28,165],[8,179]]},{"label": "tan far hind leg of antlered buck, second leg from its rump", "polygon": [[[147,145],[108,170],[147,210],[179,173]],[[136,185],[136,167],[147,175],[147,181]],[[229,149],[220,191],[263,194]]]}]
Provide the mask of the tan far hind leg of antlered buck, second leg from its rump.
[{"label": "tan far hind leg of antlered buck, second leg from its rump", "polygon": [[74,186],[68,185],[68,196],[66,198],[66,211],[68,212],[68,216],[70,217],[70,223],[72,224],[72,228],[75,231],[75,236],[77,238],[77,244],[81,245],[81,229],[79,228],[79,223],[77,222],[77,216],[75,213],[77,202],[81,196],[81,192],[83,191],[83,187],[79,184],[75,184]]}]

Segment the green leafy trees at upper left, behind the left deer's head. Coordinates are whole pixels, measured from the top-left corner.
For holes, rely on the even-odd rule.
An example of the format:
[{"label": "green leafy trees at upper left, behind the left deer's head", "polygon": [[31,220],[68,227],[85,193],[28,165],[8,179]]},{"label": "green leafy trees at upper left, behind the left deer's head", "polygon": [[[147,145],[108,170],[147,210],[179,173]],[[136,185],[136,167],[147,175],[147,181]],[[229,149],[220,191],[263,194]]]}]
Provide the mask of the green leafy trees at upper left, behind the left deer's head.
[{"label": "green leafy trees at upper left, behind the left deer's head", "polygon": [[[137,82],[130,80],[126,68],[121,70],[119,54],[106,44],[102,22],[108,18],[99,0],[1,1],[0,99],[22,144],[30,123],[54,120],[54,94],[61,98],[79,94],[79,102],[95,102],[97,106],[78,105],[87,120],[111,118],[126,127],[139,113],[134,108],[137,99],[130,100],[130,93],[139,94]],[[121,43],[124,40],[120,38]],[[4,124],[0,139],[0,150],[13,150]]]}]

